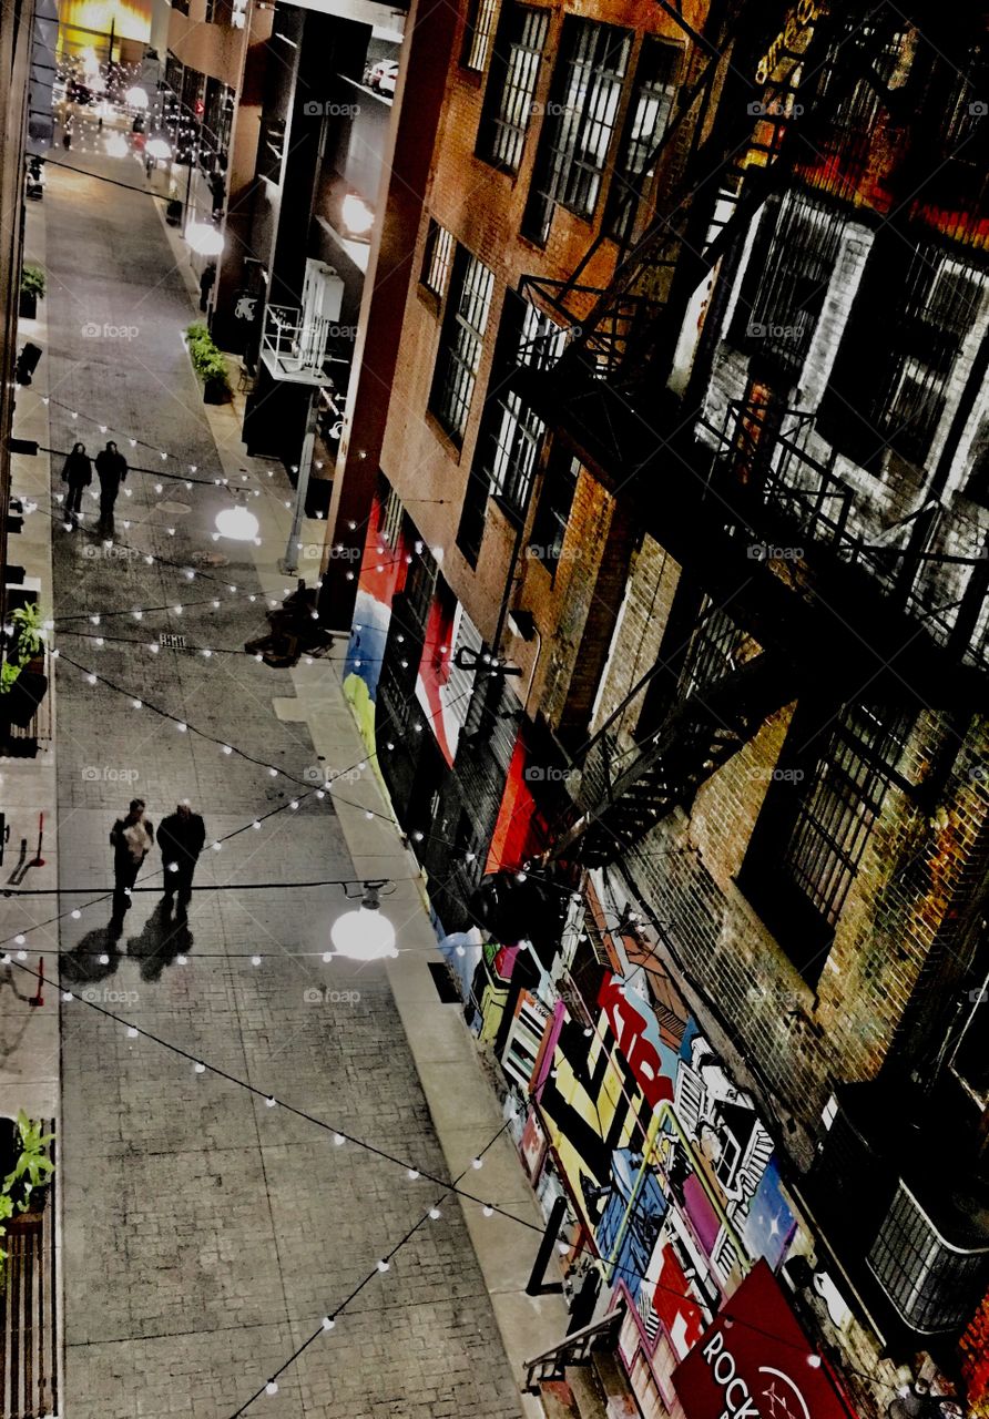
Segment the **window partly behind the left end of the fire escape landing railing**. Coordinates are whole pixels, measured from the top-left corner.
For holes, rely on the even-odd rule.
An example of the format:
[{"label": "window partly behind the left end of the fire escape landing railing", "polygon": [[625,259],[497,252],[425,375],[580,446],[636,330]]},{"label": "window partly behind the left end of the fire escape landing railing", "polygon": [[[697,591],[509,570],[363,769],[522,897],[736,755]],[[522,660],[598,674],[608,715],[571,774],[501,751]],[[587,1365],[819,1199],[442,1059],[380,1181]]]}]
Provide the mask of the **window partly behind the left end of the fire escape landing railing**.
[{"label": "window partly behind the left end of the fire escape landing railing", "polygon": [[481,434],[457,532],[457,543],[471,561],[477,559],[481,546],[490,495],[497,497],[511,517],[522,518],[546,437],[543,421],[509,387],[512,370],[519,365],[553,365],[565,343],[566,331],[515,292],[507,294]]}]

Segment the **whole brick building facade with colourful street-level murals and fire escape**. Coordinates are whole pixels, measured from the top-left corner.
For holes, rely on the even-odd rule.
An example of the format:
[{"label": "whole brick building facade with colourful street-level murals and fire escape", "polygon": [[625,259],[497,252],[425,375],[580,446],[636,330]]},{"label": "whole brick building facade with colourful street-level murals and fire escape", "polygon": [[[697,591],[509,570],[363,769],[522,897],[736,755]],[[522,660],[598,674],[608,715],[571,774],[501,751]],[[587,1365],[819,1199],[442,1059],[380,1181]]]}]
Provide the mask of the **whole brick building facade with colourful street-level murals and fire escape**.
[{"label": "whole brick building facade with colourful street-level murals and fire escape", "polygon": [[809,1408],[985,1408],[989,129],[956,21],[465,10],[387,417],[358,390],[345,433],[348,690],[575,1325],[616,1317],[644,1415],[709,1408],[724,1318],[778,1313]]}]

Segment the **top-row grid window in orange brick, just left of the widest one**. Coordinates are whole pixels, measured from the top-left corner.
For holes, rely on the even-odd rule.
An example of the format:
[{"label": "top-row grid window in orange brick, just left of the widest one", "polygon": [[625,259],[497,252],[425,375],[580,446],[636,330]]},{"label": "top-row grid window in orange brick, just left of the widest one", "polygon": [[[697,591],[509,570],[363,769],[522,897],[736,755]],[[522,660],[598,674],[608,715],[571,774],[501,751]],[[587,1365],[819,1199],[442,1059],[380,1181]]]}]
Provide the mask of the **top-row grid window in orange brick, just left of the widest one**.
[{"label": "top-row grid window in orange brick, just left of the widest one", "polygon": [[548,10],[521,4],[507,6],[498,26],[477,150],[505,172],[522,160],[548,30]]}]

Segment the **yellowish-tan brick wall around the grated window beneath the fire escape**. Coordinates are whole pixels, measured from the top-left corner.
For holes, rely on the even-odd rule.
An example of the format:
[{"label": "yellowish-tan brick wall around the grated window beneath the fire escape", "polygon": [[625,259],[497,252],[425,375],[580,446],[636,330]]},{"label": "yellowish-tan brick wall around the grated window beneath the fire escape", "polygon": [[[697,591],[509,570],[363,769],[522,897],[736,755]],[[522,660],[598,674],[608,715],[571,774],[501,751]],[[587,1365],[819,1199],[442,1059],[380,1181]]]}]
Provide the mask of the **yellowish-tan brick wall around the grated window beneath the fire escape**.
[{"label": "yellowish-tan brick wall around the grated window beneath the fire escape", "polygon": [[[595,724],[658,654],[677,569],[646,539],[626,592]],[[621,745],[641,707],[620,721]],[[966,734],[922,712],[900,773],[924,785],[948,744],[956,766],[934,810],[891,788],[867,840],[816,983],[807,985],[748,902],[736,877],[778,766],[793,707],[711,776],[690,810],[663,820],[624,858],[643,901],[664,925],[688,981],[697,983],[749,1066],[800,1165],[813,1156],[820,1111],[834,1083],[874,1078],[895,1054],[922,1063],[944,1039],[918,1013],[927,985],[951,1012],[961,990],[973,915],[983,900],[989,853],[986,725]],[[918,1005],[919,1000],[919,1005]],[[918,1030],[915,1026],[924,1025]],[[918,1056],[914,1060],[914,1056]]]}]

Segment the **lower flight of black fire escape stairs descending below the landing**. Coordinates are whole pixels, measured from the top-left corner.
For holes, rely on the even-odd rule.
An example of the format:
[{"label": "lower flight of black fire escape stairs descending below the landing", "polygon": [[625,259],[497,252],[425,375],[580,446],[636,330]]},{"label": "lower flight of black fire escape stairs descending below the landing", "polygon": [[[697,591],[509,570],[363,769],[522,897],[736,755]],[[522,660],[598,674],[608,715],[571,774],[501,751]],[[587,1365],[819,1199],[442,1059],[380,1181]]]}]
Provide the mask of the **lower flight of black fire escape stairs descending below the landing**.
[{"label": "lower flight of black fire escape stairs descending below the landing", "polygon": [[586,867],[603,867],[637,843],[678,803],[748,744],[763,721],[796,698],[796,673],[780,654],[762,651],[677,704],[633,762],[610,776],[604,744],[604,789],[559,840],[555,856],[579,841]]}]

